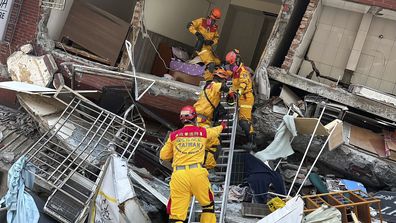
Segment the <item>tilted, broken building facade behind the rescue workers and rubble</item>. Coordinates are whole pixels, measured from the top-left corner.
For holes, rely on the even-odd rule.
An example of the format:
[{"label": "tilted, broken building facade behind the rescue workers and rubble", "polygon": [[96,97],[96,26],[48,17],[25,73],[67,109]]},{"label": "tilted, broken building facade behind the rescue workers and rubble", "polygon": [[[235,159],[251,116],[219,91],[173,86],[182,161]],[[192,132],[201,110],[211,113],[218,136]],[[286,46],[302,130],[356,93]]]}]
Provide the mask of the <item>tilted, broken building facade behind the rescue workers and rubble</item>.
[{"label": "tilted, broken building facade behind the rescue workers and rubble", "polygon": [[[136,165],[169,175],[170,170],[163,170],[156,160],[161,142],[155,138],[163,140],[168,130],[177,128],[180,108],[194,103],[203,80],[170,69],[176,54],[172,47],[191,51],[193,38],[185,30],[186,23],[213,6],[220,7],[226,16],[219,22],[216,53],[222,58],[231,48],[238,48],[246,65],[256,71],[256,80],[270,78],[270,89],[257,83],[254,122],[261,147],[272,140],[286,107],[294,104],[305,117],[313,118],[325,108],[324,124],[336,118],[343,121],[345,144],[325,150],[319,157],[321,164],[377,190],[396,187],[396,33],[392,28],[396,5],[392,1],[146,0],[141,12],[145,24],[137,39],[135,4],[123,0],[9,1],[1,62],[6,64],[13,51],[32,43],[33,54],[54,58],[59,68],[51,72],[59,73],[54,75],[54,85],[64,82],[76,91],[96,90],[87,97],[115,114],[128,107],[125,100],[130,96],[125,89],[134,88],[134,83],[127,75],[136,69],[142,77],[139,88],[148,90],[138,102],[129,103],[142,112],[148,122],[146,135],[151,138],[135,154]],[[134,43],[132,64],[125,40]],[[12,76],[6,71],[11,66],[3,69],[4,79]],[[14,93],[1,90],[1,94],[8,95],[2,96],[1,103],[15,106]],[[260,95],[271,99],[260,99]],[[323,141],[316,137],[308,156],[315,158]],[[307,137],[297,137],[292,145],[304,153],[307,142]],[[240,157],[244,153],[235,153],[234,183],[243,177]]]}]

